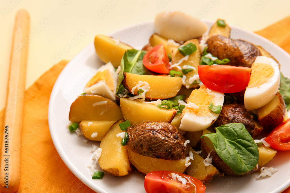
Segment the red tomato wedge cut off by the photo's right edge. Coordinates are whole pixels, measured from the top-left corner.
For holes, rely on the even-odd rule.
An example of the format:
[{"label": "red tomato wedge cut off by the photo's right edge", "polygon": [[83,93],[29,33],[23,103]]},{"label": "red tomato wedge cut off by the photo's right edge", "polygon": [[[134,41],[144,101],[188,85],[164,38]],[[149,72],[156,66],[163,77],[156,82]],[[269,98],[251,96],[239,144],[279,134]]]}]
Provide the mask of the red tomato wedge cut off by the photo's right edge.
[{"label": "red tomato wedge cut off by the photo's right edge", "polygon": [[290,150],[290,119],[278,125],[273,131],[264,139],[271,148],[276,150]]}]

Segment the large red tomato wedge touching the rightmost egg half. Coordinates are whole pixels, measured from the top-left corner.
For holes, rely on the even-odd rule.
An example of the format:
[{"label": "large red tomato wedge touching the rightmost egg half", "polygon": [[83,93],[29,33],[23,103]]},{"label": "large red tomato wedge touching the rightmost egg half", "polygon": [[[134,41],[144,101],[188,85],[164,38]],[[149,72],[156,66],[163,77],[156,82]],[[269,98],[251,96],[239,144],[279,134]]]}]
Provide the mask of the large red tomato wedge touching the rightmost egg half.
[{"label": "large red tomato wedge touching the rightmost egg half", "polygon": [[244,90],[250,81],[251,68],[227,65],[198,66],[200,81],[206,88],[221,93]]}]

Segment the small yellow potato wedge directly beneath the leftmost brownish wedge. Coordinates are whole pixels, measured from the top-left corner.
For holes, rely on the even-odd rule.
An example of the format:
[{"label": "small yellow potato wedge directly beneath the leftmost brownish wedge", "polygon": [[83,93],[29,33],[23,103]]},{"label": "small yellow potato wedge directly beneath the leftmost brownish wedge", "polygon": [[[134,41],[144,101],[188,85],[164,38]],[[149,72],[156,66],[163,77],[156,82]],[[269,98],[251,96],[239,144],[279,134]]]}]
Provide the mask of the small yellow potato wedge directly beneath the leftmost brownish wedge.
[{"label": "small yellow potato wedge directly beneath the leftmost brownish wedge", "polygon": [[[107,131],[116,121],[82,121],[79,124],[79,130],[89,140],[102,141]],[[94,137],[93,133],[97,133],[97,136]]]}]

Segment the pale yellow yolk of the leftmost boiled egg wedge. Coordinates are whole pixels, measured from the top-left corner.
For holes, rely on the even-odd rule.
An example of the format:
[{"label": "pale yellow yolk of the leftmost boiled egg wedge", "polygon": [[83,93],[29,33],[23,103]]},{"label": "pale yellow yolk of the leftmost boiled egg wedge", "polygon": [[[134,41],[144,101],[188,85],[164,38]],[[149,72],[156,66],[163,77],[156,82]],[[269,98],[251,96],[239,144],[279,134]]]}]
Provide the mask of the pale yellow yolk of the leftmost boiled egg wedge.
[{"label": "pale yellow yolk of the leftmost boiled egg wedge", "polygon": [[104,71],[98,71],[95,76],[93,76],[93,78],[89,80],[85,88],[91,87],[100,81],[104,81],[107,84],[108,88],[111,91],[114,91],[114,80],[108,69]]}]

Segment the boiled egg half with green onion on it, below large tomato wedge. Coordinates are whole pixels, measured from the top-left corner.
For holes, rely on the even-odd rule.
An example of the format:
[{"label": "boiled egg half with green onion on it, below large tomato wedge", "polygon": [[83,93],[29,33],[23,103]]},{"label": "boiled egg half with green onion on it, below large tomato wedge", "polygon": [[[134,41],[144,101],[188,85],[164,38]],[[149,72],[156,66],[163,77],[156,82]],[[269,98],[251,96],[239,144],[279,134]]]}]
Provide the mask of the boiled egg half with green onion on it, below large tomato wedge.
[{"label": "boiled egg half with green onion on it, below large tomato wedge", "polygon": [[182,111],[180,129],[185,131],[200,131],[211,126],[220,114],[213,113],[209,104],[223,105],[224,94],[212,91],[202,85],[191,92],[187,104]]}]

